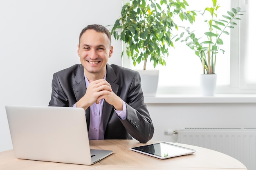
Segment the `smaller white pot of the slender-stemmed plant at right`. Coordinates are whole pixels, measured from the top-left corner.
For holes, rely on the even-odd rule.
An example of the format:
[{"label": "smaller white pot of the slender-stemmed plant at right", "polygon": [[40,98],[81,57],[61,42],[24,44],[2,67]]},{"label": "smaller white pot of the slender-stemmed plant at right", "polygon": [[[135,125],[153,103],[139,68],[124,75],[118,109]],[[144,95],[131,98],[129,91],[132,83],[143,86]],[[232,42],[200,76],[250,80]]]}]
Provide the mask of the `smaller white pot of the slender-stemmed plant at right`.
[{"label": "smaller white pot of the slender-stemmed plant at right", "polygon": [[201,74],[200,87],[203,96],[214,96],[216,91],[216,74]]}]

